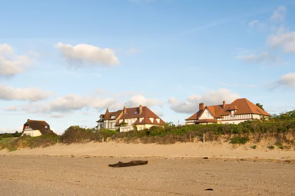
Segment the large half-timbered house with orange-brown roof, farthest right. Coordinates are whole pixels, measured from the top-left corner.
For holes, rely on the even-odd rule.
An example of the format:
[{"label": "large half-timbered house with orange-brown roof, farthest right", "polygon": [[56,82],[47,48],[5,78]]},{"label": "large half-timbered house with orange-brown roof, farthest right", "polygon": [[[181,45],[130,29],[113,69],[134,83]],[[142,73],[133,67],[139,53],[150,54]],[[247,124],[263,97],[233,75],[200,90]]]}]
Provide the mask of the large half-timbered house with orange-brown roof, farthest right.
[{"label": "large half-timbered house with orange-brown roof, farthest right", "polygon": [[204,107],[204,103],[199,103],[199,111],[185,119],[185,124],[238,124],[248,120],[260,120],[263,116],[268,118],[270,114],[248,99],[238,98],[230,104],[223,101],[221,105]]}]

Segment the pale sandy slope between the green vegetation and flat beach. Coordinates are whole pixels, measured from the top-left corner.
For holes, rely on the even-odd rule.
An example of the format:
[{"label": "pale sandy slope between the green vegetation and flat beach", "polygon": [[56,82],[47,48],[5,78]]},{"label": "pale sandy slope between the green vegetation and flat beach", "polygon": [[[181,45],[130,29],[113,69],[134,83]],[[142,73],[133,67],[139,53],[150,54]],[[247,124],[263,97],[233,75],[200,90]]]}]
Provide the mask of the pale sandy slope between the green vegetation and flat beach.
[{"label": "pale sandy slope between the green vegetation and flat beach", "polygon": [[55,145],[44,148],[20,148],[8,152],[0,150],[0,154],[62,154],[62,155],[117,155],[117,156],[216,156],[216,157],[257,157],[257,158],[295,158],[294,149],[282,150],[278,147],[271,150],[268,144],[257,144],[257,149],[251,148],[253,144],[232,145],[219,142],[177,143],[173,145],[157,144],[126,144],[116,142],[90,142],[84,144]]}]

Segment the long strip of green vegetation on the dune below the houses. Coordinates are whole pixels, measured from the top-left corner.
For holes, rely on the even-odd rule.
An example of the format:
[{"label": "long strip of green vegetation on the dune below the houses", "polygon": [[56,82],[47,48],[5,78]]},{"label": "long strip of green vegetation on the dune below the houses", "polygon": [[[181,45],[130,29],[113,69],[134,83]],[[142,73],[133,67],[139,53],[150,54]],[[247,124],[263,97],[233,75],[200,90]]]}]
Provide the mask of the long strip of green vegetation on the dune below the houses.
[{"label": "long strip of green vegetation on the dune below the houses", "polygon": [[[259,142],[261,139],[272,138],[276,139],[278,141],[276,145],[283,149],[283,144],[286,144],[286,147],[295,146],[295,112],[272,116],[269,121],[179,126],[170,122],[163,127],[152,126],[150,129],[135,129],[128,132],[108,129],[95,131],[94,128],[70,126],[62,135],[47,134],[39,137],[2,138],[0,139],[0,149],[46,147],[57,143],[102,142],[103,138],[104,141],[108,138],[108,140],[123,142],[174,144],[196,139],[203,141],[203,134],[205,134],[206,141],[216,141],[222,138],[222,141],[231,141],[232,144],[246,144],[250,140]],[[4,137],[8,136],[4,135]],[[255,149],[256,145],[253,148]]]}]

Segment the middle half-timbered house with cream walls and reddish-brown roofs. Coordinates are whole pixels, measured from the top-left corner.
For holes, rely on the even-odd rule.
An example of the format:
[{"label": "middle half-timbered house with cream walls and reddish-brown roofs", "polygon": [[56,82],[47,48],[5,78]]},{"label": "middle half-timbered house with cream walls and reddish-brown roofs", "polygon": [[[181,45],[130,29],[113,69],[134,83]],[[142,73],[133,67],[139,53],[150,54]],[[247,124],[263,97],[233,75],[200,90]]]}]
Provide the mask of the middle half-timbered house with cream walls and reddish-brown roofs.
[{"label": "middle half-timbered house with cream walls and reddish-brown roofs", "polygon": [[[116,123],[115,123],[116,122]],[[115,123],[115,124],[114,124]],[[131,131],[136,126],[137,130],[149,129],[151,126],[163,126],[166,123],[153,113],[147,106],[126,108],[117,112],[109,112],[100,115],[97,121],[96,130],[107,128],[120,132]]]}]

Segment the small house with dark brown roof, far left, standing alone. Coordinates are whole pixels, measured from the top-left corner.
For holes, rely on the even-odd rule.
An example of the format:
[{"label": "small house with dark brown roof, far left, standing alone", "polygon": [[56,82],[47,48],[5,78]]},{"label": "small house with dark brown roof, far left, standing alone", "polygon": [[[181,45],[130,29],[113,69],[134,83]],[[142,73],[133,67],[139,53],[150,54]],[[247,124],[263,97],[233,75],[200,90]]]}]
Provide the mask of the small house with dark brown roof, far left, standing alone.
[{"label": "small house with dark brown roof, far left, standing alone", "polygon": [[24,124],[21,136],[36,137],[47,133],[53,133],[50,126],[45,121],[29,120]]}]

